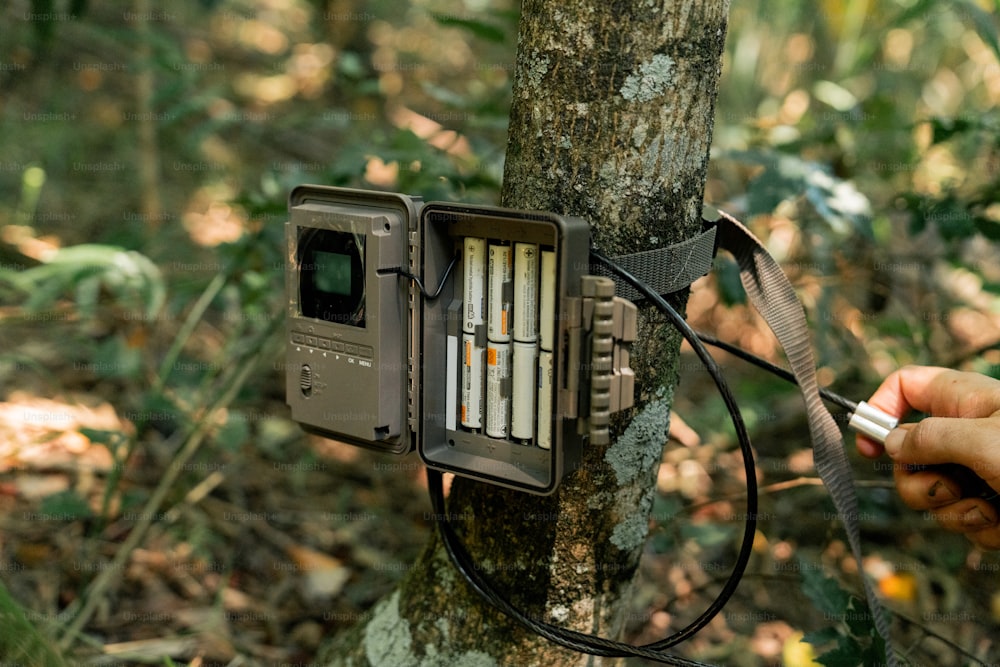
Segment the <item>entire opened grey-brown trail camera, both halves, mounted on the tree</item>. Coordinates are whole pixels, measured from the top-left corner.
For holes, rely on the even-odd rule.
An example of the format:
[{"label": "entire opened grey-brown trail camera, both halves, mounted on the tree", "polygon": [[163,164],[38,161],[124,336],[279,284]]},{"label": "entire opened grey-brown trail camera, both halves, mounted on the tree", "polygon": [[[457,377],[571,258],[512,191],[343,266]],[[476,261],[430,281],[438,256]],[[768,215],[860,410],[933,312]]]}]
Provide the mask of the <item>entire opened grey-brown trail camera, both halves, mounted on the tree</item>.
[{"label": "entire opened grey-brown trail camera, both halves, mounted on the tree", "polygon": [[[585,221],[305,185],[285,235],[286,399],[307,431],[544,495],[606,426],[626,385],[588,327],[621,307],[584,279]],[[595,280],[600,308],[581,294]]]}]

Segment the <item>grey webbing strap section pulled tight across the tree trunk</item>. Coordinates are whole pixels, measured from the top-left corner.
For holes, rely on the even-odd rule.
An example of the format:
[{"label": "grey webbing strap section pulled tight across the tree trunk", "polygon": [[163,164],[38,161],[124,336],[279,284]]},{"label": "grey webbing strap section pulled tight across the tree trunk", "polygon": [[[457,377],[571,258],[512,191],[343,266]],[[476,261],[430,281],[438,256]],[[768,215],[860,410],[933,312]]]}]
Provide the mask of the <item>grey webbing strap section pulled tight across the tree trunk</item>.
[{"label": "grey webbing strap section pulled tight across the tree trunk", "polygon": [[[616,264],[649,285],[657,294],[670,294],[684,289],[708,273],[715,259],[715,227],[681,243],[645,250],[631,255],[612,257]],[[664,267],[669,267],[664,270]],[[603,266],[591,268],[593,273],[614,279],[616,276]],[[631,285],[615,280],[615,292],[629,301],[642,301],[643,296]]]}]

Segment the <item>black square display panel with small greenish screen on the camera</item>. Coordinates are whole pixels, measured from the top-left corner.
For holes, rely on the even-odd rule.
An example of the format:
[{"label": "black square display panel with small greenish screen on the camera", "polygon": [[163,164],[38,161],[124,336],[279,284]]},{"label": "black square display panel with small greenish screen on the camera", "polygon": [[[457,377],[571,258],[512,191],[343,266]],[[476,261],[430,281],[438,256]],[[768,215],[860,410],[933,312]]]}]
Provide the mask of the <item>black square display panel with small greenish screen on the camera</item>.
[{"label": "black square display panel with small greenish screen on the camera", "polygon": [[329,229],[299,229],[302,315],[365,326],[365,237]]}]

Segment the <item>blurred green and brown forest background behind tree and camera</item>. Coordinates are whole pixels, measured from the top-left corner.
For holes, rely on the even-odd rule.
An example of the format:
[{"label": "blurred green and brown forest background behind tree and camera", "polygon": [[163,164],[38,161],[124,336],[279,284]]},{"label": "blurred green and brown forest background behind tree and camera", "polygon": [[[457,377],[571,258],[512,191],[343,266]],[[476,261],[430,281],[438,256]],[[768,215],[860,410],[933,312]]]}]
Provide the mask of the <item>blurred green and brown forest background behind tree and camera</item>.
[{"label": "blurred green and brown forest background behind tree and camera", "polygon": [[[1000,377],[997,11],[731,9],[706,201],[782,261],[840,393],[905,363]],[[495,203],[517,15],[510,0],[0,9],[0,615],[19,628],[0,657],[309,660],[405,574],[431,528],[420,466],[305,438],[284,408],[285,198],[310,182]],[[688,315],[781,359],[724,258]],[[720,359],[753,427],[761,532],[739,598],[680,650],[856,664],[870,627],[852,622],[856,572],[798,399]],[[685,368],[637,640],[705,607],[740,529],[723,406]],[[913,664],[1000,660],[1000,559],[853,458],[900,647]]]}]

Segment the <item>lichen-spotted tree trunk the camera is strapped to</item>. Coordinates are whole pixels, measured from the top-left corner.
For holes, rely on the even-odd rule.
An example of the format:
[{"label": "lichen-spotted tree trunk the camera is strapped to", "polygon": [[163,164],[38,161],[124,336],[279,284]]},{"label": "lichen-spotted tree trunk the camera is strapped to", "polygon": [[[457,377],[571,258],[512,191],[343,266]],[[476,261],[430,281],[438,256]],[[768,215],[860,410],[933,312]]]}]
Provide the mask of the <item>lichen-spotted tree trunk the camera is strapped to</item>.
[{"label": "lichen-spotted tree trunk the camera is strapped to", "polygon": [[[607,254],[700,231],[728,0],[524,0],[503,204],[582,217]],[[669,267],[664,267],[669,270]],[[456,479],[470,552],[533,617],[620,635],[667,439],[679,337],[641,314],[637,407],[540,498]],[[484,605],[435,535],[335,665],[609,665]]]}]

